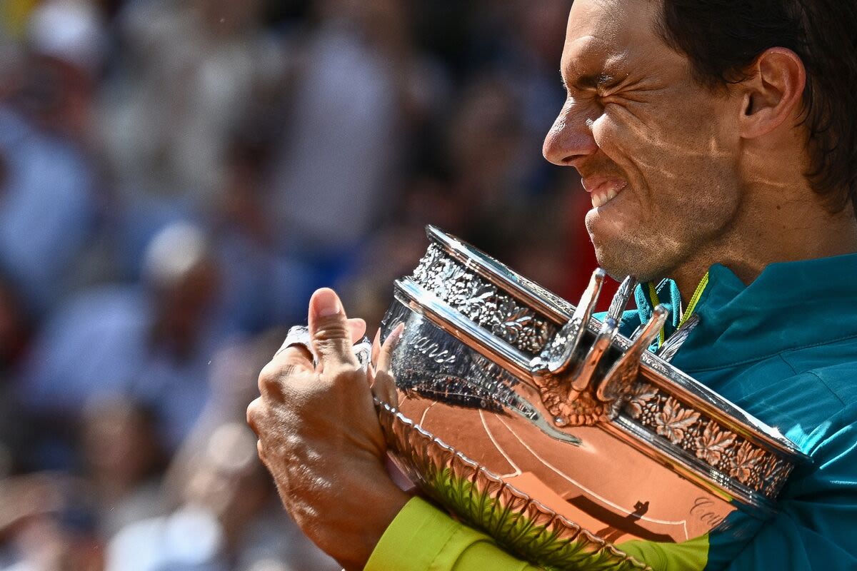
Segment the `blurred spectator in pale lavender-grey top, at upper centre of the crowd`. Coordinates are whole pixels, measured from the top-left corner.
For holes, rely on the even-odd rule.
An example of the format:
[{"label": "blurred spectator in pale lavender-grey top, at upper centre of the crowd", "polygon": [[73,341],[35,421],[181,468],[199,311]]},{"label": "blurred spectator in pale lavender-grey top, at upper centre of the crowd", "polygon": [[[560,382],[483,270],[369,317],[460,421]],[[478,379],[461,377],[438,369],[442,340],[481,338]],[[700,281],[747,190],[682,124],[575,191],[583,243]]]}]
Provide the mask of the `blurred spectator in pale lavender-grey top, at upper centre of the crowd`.
[{"label": "blurred spectator in pale lavender-grey top, at upper centre of the crowd", "polygon": [[402,0],[319,0],[315,9],[321,22],[303,54],[272,208],[285,245],[331,279],[387,213],[407,114],[419,113],[414,94],[439,92],[432,81],[442,78],[414,51]]}]

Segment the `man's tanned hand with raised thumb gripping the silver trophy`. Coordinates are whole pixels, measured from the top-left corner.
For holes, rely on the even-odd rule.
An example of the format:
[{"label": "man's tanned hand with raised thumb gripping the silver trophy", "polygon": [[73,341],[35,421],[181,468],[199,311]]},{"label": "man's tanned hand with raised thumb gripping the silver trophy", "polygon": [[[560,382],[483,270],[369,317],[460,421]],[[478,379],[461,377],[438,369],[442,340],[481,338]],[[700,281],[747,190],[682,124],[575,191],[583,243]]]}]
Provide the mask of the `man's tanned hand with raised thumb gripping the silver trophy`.
[{"label": "man's tanned hand with raised thumb gripping the silver trophy", "polygon": [[261,397],[247,409],[285,509],[346,569],[365,566],[409,499],[387,475],[369,379],[352,352],[363,330],[332,289],[316,291],[309,334],[317,365],[303,347],[281,351],[262,369]]}]

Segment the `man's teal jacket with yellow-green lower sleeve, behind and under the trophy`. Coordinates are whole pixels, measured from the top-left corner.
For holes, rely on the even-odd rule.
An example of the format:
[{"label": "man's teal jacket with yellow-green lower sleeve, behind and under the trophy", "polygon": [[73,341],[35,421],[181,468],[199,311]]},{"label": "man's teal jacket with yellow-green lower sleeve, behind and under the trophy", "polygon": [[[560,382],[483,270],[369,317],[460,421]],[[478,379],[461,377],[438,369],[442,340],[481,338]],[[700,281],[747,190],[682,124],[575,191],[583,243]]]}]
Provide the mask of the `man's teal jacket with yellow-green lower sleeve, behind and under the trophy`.
[{"label": "man's teal jacket with yellow-green lower sleeve, behind and under the trophy", "polygon": [[[714,265],[695,295],[699,324],[673,364],[776,426],[812,464],[795,471],[779,512],[746,538],[713,530],[685,544],[620,544],[655,569],[857,569],[857,254],[769,265],[749,286]],[[623,316],[630,334],[653,302],[681,322],[674,283],[644,284]],[[686,317],[686,316],[685,316]],[[740,525],[746,516],[730,515]],[[369,571],[536,569],[421,498],[405,505]]]}]

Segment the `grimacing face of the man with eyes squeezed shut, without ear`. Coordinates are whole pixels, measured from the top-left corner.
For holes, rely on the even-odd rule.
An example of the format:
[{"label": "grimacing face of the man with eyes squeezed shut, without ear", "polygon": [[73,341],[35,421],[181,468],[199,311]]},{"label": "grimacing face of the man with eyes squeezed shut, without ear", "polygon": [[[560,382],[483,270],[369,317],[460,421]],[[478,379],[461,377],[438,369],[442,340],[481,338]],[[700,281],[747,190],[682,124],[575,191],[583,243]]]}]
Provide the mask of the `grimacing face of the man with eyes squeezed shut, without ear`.
[{"label": "grimacing face of the man with eyes squeezed shut, without ear", "polygon": [[722,246],[740,209],[740,98],[692,79],[656,32],[650,0],[576,0],[561,71],[566,104],[544,155],[574,166],[586,228],[614,277],[668,277]]}]

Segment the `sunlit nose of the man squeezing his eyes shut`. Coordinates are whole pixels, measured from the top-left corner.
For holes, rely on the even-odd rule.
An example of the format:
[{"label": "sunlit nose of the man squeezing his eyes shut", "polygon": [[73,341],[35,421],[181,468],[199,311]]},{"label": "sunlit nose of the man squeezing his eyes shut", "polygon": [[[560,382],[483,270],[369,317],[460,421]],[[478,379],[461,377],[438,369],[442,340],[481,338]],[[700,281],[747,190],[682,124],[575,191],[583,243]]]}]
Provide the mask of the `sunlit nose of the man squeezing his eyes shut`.
[{"label": "sunlit nose of the man squeezing his eyes shut", "polygon": [[577,166],[598,151],[592,134],[593,118],[584,105],[568,98],[544,138],[542,154],[553,164]]}]

